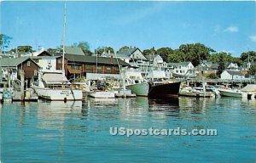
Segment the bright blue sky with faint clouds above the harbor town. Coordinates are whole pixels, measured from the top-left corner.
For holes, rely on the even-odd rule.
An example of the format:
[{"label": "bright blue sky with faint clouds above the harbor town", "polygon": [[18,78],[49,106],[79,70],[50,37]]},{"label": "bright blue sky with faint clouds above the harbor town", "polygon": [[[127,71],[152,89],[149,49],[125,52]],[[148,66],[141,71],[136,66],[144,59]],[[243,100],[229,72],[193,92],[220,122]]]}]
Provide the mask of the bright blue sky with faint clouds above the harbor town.
[{"label": "bright blue sky with faint clouds above the harbor town", "polygon": [[[1,2],[0,33],[10,48],[61,45],[64,2]],[[110,46],[178,48],[201,42],[240,56],[256,51],[255,2],[67,2],[66,45],[89,42],[90,50]]]}]

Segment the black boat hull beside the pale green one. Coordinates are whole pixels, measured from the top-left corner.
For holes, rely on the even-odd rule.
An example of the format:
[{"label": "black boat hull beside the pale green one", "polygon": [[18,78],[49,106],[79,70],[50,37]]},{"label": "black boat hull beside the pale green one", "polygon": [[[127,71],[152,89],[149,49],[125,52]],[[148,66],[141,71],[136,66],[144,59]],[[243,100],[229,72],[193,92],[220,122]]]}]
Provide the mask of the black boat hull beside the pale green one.
[{"label": "black boat hull beside the pale green one", "polygon": [[181,82],[162,83],[149,86],[148,98],[177,97]]}]

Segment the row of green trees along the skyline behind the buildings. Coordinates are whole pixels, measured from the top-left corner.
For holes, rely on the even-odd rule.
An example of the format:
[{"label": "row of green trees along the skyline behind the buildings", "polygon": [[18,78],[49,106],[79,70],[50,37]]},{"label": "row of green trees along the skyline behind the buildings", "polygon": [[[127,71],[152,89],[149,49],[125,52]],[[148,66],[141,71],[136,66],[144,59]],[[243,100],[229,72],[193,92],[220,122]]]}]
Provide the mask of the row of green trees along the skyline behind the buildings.
[{"label": "row of green trees along the skyline behind the buildings", "polygon": [[[9,41],[11,37],[0,34],[0,50],[9,47]],[[85,55],[91,55],[92,53],[96,53],[97,55],[102,55],[102,53],[114,53],[114,49],[111,47],[98,47],[94,51],[90,50],[90,45],[88,42],[74,42],[72,45],[73,48],[81,48]],[[124,46],[119,48],[118,51],[131,48],[129,46]],[[62,46],[56,48],[48,48],[47,51],[49,53],[55,54],[60,53],[62,51]],[[32,46],[18,46],[17,48],[13,48],[9,51],[9,53],[32,53],[34,50]],[[207,60],[212,63],[218,64],[219,69],[223,70],[225,64],[227,63],[236,63],[238,66],[241,66],[244,62],[247,62],[250,59],[250,62],[256,61],[256,52],[255,51],[247,51],[241,53],[240,57],[233,57],[231,53],[228,52],[216,52],[213,48],[209,48],[202,43],[188,43],[182,44],[177,49],[172,49],[169,47],[165,48],[148,48],[143,50],[144,55],[148,54],[159,54],[162,59],[169,62],[188,62],[190,61],[194,66],[200,65],[202,60]],[[253,65],[253,70],[255,70],[255,65]]]}]

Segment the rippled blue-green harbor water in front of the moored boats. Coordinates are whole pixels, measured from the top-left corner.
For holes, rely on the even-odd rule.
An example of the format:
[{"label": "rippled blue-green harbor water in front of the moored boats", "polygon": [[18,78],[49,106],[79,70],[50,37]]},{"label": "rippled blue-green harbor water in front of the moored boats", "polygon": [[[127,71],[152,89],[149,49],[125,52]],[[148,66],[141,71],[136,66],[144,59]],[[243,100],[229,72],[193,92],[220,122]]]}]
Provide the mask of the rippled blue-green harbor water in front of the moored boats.
[{"label": "rippled blue-green harbor water in front of the moored boats", "polygon": [[[1,162],[255,162],[256,100],[88,98],[0,104]],[[218,135],[112,135],[217,129]]]}]

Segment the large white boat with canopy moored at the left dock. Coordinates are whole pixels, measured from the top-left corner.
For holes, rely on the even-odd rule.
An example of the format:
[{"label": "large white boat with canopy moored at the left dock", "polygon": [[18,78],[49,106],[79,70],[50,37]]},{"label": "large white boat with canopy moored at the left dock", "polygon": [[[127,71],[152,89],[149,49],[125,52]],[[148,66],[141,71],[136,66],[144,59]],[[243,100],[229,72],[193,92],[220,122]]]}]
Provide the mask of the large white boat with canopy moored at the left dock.
[{"label": "large white boat with canopy moored at the left dock", "polygon": [[38,73],[38,81],[32,88],[40,98],[55,101],[82,100],[82,90],[73,87],[61,70]]}]

